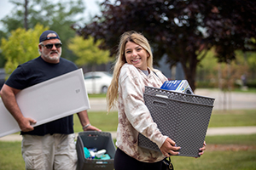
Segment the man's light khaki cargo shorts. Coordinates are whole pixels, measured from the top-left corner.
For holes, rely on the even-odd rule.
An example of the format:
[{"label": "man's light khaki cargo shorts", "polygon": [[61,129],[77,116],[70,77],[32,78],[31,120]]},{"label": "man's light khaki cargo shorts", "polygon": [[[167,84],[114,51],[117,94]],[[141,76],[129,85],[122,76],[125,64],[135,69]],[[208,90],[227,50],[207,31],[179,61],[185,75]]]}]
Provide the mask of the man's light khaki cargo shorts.
[{"label": "man's light khaki cargo shorts", "polygon": [[21,152],[26,169],[71,170],[77,167],[75,134],[23,135]]}]

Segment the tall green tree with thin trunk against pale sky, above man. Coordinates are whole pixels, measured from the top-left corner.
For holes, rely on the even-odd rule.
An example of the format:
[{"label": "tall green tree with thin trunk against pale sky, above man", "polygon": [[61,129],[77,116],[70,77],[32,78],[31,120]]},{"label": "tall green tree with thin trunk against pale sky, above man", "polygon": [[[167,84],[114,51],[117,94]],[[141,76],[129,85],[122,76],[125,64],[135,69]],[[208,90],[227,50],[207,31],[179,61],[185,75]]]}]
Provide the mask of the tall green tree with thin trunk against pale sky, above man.
[{"label": "tall green tree with thin trunk against pale sky, above man", "polygon": [[69,38],[76,34],[71,26],[82,20],[77,17],[78,14],[84,12],[82,0],[66,0],[64,3],[63,1],[49,0],[12,0],[11,3],[15,3],[12,14],[1,20],[7,35],[10,31],[24,28],[24,26],[27,29],[33,29],[39,23],[49,27],[50,30],[56,31],[61,37],[63,44],[61,57],[74,60],[72,53],[67,49],[67,42]]}]

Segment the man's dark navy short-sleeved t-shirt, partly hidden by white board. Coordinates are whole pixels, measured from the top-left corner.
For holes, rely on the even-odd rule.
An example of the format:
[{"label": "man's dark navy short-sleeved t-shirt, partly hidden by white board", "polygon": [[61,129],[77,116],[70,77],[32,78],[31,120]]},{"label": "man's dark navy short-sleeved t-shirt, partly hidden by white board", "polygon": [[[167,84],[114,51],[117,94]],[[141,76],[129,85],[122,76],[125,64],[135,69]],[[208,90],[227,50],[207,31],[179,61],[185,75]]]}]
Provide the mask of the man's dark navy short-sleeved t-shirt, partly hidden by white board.
[{"label": "man's dark navy short-sleeved t-shirt, partly hidden by white board", "polygon": [[[58,64],[50,64],[41,57],[38,57],[19,65],[5,83],[9,87],[22,90],[77,69],[78,67],[67,59],[61,58]],[[31,132],[21,131],[20,133],[32,135],[73,133],[73,115],[34,127],[34,130]]]}]

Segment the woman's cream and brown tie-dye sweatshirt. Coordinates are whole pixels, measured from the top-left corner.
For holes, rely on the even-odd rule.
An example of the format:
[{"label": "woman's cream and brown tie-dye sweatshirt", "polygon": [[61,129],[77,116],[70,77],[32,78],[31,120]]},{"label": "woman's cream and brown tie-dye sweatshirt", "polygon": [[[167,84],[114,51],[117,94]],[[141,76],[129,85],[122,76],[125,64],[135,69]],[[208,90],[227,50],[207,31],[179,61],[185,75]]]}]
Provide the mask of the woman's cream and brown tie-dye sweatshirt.
[{"label": "woman's cream and brown tie-dye sweatshirt", "polygon": [[147,150],[138,146],[138,133],[142,133],[160,148],[167,136],[162,135],[144,104],[145,86],[160,88],[167,78],[149,68],[148,77],[134,65],[125,64],[119,74],[119,124],[116,145],[127,155],[144,162],[161,161],[165,158],[160,151]]}]

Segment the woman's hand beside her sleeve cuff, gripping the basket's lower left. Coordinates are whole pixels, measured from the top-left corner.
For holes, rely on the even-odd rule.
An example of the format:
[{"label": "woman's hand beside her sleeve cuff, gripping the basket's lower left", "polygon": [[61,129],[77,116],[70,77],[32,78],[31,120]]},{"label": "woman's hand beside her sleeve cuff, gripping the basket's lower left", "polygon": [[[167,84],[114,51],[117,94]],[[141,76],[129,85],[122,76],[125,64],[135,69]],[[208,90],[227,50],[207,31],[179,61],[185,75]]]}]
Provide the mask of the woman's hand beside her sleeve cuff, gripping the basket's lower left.
[{"label": "woman's hand beside her sleeve cuff, gripping the basket's lower left", "polygon": [[160,147],[160,150],[164,156],[169,157],[177,156],[179,154],[177,150],[180,150],[180,148],[181,147],[176,146],[175,142],[172,139],[167,138],[164,144],[162,144],[162,146]]}]

